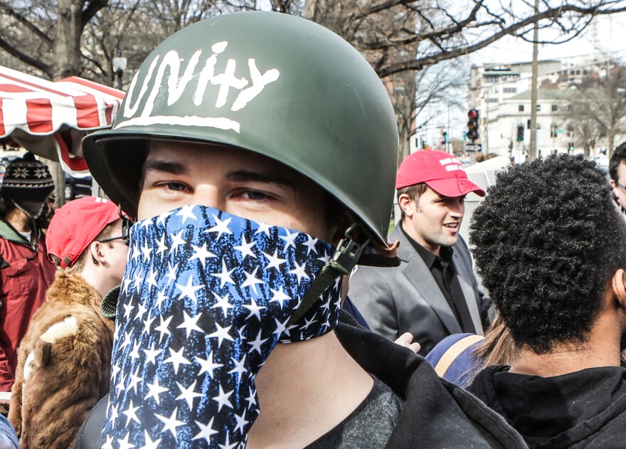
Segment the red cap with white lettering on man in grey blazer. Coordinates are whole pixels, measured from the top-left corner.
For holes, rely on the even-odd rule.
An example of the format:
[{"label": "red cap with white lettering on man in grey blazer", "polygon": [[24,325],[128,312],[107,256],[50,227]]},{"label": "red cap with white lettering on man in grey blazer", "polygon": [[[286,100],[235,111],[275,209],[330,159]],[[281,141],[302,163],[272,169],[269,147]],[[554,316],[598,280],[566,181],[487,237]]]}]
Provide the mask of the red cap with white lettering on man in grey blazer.
[{"label": "red cap with white lettering on man in grey blazer", "polygon": [[484,196],[484,190],[467,179],[458,159],[445,152],[423,149],[404,159],[396,176],[396,189],[422,182],[443,196],[462,196],[470,191]]}]

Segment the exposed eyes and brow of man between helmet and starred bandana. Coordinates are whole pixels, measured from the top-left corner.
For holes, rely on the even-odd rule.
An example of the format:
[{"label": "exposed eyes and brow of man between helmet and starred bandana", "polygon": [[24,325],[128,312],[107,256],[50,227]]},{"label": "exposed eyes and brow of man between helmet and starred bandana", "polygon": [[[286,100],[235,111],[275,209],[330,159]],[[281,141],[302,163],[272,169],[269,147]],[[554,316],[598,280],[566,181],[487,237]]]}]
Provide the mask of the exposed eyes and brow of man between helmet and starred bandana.
[{"label": "exposed eyes and brow of man between helmet and starred bandana", "polygon": [[327,196],[314,182],[268,157],[231,147],[151,142],[137,218],[186,204],[295,229],[331,242]]}]

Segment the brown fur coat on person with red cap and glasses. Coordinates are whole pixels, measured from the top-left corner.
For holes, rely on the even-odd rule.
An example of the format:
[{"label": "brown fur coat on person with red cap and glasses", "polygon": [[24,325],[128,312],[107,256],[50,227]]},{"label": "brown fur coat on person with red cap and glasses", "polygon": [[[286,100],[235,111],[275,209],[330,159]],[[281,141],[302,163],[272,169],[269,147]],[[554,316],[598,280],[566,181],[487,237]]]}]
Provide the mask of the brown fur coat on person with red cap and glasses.
[{"label": "brown fur coat on person with red cap and glasses", "polygon": [[22,449],[71,448],[87,414],[109,391],[113,323],[102,297],[61,271],[18,349],[9,421]]}]

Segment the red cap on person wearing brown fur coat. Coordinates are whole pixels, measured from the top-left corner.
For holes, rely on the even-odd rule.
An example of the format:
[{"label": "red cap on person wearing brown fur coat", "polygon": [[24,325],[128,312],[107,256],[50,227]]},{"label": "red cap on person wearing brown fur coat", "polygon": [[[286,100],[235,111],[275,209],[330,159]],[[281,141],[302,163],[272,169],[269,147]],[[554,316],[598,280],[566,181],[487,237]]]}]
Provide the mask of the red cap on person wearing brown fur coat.
[{"label": "red cap on person wearing brown fur coat", "polygon": [[120,218],[112,201],[96,196],[70,201],[58,208],[46,233],[48,254],[60,258],[60,267],[74,265],[85,248],[107,224]]}]

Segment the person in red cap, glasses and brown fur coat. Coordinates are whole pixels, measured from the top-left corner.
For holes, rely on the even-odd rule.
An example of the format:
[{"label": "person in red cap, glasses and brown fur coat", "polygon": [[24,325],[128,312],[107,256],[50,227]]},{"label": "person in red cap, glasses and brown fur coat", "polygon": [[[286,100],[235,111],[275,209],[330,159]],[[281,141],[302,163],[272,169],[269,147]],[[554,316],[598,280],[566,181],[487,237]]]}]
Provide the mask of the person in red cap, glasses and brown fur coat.
[{"label": "person in red cap, glasses and brown fur coat", "polygon": [[51,220],[46,245],[59,270],[18,349],[9,407],[23,449],[69,448],[109,391],[113,323],[100,305],[119,291],[128,228],[115,204],[93,196],[70,201]]}]

